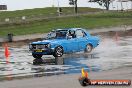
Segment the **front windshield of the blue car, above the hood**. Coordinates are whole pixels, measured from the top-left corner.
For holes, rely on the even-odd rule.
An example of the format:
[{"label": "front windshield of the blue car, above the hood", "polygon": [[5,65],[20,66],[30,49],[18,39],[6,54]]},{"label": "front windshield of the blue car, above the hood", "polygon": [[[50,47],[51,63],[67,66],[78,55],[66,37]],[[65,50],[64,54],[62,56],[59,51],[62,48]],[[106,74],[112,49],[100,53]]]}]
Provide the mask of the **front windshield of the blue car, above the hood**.
[{"label": "front windshield of the blue car, above the hood", "polygon": [[62,39],[66,38],[67,30],[56,30],[56,31],[51,31],[47,35],[47,39]]}]

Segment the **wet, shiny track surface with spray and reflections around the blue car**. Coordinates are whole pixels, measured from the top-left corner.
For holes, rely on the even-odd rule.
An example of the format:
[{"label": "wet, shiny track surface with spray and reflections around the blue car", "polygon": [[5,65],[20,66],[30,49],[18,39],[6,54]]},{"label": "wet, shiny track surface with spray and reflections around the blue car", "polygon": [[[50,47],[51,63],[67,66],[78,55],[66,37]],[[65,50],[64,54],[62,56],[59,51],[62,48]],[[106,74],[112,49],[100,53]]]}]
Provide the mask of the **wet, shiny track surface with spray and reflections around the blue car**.
[{"label": "wet, shiny track surface with spray and reflections around the blue car", "polygon": [[66,54],[61,58],[43,56],[44,64],[33,65],[33,57],[28,46],[10,47],[9,63],[4,57],[4,48],[0,47],[0,80],[13,78],[41,77],[59,74],[80,73],[83,67],[87,71],[103,71],[132,66],[132,36],[114,36],[99,34],[101,41],[92,53]]}]

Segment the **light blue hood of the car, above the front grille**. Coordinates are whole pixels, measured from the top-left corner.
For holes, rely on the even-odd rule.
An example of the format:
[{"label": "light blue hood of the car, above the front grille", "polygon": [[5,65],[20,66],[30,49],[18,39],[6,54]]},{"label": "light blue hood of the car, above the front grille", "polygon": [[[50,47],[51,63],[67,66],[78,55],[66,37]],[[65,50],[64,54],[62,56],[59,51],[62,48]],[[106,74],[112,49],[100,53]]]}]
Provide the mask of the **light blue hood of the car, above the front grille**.
[{"label": "light blue hood of the car, above the front grille", "polygon": [[43,41],[32,42],[32,44],[61,43],[61,42],[65,42],[65,40],[66,40],[66,39],[43,40]]}]

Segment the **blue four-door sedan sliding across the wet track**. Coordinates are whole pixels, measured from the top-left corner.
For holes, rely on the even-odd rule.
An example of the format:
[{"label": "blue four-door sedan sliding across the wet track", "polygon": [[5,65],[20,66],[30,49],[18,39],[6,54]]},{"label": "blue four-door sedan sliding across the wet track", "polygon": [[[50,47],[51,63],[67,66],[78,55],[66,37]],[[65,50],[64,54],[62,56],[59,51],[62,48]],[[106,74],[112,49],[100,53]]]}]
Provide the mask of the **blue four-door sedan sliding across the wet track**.
[{"label": "blue four-door sedan sliding across the wet track", "polygon": [[30,43],[29,49],[34,58],[41,58],[42,55],[61,57],[66,53],[80,51],[90,53],[98,45],[97,36],[91,36],[82,28],[69,28],[51,31],[45,40]]}]

